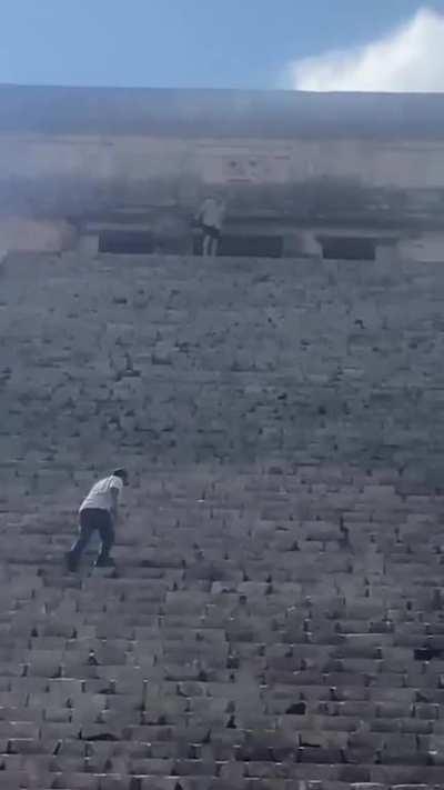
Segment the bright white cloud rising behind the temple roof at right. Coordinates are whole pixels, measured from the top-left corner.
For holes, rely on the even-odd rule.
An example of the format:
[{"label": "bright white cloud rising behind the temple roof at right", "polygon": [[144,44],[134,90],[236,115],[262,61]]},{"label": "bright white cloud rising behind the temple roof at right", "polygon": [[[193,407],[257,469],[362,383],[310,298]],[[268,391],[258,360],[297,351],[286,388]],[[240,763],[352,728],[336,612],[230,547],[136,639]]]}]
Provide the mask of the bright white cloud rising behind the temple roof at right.
[{"label": "bright white cloud rising behind the temple roof at right", "polygon": [[444,14],[423,8],[365,47],[296,60],[290,74],[297,90],[444,91]]}]

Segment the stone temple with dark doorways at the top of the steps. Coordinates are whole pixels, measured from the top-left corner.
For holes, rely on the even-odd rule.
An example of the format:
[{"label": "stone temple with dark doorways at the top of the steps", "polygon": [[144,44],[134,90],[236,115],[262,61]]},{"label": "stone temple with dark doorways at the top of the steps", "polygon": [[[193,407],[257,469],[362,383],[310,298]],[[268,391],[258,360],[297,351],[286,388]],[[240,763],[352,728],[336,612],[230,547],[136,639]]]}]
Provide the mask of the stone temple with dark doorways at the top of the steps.
[{"label": "stone temple with dark doorways at the top of the steps", "polygon": [[444,262],[444,94],[0,87],[0,250]]}]

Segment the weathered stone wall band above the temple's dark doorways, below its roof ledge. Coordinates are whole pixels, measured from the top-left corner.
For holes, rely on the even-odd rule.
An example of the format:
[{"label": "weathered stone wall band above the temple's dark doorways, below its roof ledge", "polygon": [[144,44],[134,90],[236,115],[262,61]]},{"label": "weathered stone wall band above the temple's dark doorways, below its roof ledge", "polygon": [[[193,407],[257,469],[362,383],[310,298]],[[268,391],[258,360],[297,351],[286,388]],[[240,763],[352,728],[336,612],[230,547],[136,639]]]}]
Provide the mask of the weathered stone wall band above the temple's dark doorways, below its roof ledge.
[{"label": "weathered stone wall band above the temple's dark doorways, below its roof ledge", "polygon": [[115,207],[193,211],[223,190],[234,213],[432,218],[441,228],[443,141],[1,134],[0,212],[85,219]]}]

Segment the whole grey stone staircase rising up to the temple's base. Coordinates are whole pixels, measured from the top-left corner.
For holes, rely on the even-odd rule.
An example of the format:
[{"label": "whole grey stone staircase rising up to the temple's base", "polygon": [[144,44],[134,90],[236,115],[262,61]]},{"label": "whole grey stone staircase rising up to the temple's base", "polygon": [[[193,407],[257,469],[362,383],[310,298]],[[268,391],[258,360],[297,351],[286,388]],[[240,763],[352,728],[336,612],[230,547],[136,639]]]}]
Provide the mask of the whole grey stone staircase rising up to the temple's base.
[{"label": "whole grey stone staircase rising up to the temple's base", "polygon": [[[444,788],[443,276],[346,267],[346,298],[370,294],[344,312],[357,343],[311,301],[332,277],[313,263],[313,353],[291,367],[289,262],[279,357],[281,306],[235,296],[270,262],[229,263],[230,291],[214,263],[161,263],[11,258],[0,280],[0,788]],[[117,572],[92,549],[68,574],[79,500],[114,460]]]}]

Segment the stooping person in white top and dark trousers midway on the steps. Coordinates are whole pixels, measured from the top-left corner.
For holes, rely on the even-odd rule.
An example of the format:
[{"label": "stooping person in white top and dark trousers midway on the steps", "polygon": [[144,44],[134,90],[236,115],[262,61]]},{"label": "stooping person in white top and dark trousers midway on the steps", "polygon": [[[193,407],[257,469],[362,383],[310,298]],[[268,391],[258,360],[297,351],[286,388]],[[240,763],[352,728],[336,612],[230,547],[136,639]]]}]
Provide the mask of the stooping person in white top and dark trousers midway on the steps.
[{"label": "stooping person in white top and dark trousers midway on the steps", "polygon": [[95,531],[100,534],[101,548],[95,560],[97,568],[113,568],[110,551],[114,543],[114,526],[118,518],[119,497],[128,486],[128,472],[115,469],[108,478],[99,480],[79,508],[79,538],[67,553],[68,570],[75,571],[80,558]]}]

